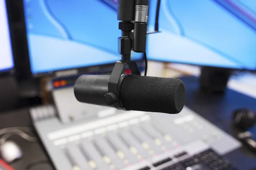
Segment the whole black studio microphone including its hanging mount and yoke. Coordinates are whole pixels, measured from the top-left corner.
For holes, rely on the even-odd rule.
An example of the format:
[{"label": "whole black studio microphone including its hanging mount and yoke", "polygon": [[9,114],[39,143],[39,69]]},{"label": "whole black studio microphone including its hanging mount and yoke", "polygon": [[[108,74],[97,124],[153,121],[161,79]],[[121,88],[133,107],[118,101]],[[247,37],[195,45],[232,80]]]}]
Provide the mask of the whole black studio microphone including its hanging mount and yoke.
[{"label": "whole black studio microphone including its hanging mount and yoke", "polygon": [[[131,60],[131,50],[140,53],[146,50],[148,0],[117,0],[117,4],[122,31],[122,37],[118,37],[121,60],[116,62],[110,76],[80,76],[74,85],[76,99],[125,111],[179,113],[185,104],[184,83],[180,79],[141,77],[136,62]],[[131,74],[122,75],[126,65]]]}]

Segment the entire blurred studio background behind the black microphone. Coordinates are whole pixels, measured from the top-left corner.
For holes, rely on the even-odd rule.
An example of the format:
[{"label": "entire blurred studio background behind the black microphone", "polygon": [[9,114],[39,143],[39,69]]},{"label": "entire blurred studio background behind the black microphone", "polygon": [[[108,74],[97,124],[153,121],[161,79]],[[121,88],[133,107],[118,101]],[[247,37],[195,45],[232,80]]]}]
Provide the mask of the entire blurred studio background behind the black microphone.
[{"label": "entire blurred studio background behind the black microphone", "polygon": [[256,168],[256,1],[149,0],[147,76],[184,82],[175,115],[76,100],[121,59],[118,23],[117,0],[0,0],[0,169]]}]

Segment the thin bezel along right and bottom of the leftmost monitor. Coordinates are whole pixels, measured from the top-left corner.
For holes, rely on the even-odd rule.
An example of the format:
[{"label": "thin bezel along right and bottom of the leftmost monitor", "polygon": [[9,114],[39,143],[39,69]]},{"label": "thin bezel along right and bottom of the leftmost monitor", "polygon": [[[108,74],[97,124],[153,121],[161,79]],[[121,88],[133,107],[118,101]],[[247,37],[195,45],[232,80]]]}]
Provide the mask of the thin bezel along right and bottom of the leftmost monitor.
[{"label": "thin bezel along right and bottom of the leftmost monitor", "polygon": [[11,23],[11,19],[10,19],[10,10],[9,10],[7,1],[8,0],[5,0],[5,5],[6,5],[7,23],[8,23],[8,28],[9,28],[9,38],[10,38],[11,51],[12,51],[13,66],[11,68],[6,68],[3,70],[0,70],[0,77],[11,76],[15,72],[15,61],[14,61],[15,50],[14,50],[14,43],[13,43],[14,39],[13,39],[13,34],[12,34],[12,29],[11,29],[12,23]]}]

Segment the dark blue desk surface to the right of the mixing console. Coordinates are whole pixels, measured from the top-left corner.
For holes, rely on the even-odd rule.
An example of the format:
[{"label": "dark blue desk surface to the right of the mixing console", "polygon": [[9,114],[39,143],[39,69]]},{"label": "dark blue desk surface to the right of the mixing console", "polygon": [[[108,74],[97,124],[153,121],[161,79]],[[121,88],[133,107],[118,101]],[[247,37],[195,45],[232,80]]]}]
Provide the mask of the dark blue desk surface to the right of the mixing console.
[{"label": "dark blue desk surface to the right of the mixing console", "polygon": [[[232,136],[237,133],[231,122],[233,111],[239,108],[256,111],[256,99],[249,96],[229,89],[224,95],[204,94],[199,90],[198,78],[183,77],[182,80],[186,85],[186,106]],[[256,127],[252,131],[256,133]],[[235,150],[225,157],[239,170],[256,168],[256,154],[246,147]]]}]

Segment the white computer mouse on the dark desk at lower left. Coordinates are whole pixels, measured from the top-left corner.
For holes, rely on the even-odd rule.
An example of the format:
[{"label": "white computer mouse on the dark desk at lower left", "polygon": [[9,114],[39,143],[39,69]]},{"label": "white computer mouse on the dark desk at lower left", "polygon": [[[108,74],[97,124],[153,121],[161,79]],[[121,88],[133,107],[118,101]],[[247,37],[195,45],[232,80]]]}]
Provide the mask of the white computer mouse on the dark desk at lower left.
[{"label": "white computer mouse on the dark desk at lower left", "polygon": [[0,156],[7,163],[11,163],[22,157],[22,151],[15,142],[6,141],[0,146]]}]

